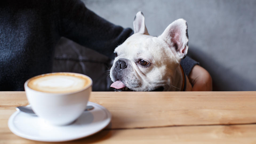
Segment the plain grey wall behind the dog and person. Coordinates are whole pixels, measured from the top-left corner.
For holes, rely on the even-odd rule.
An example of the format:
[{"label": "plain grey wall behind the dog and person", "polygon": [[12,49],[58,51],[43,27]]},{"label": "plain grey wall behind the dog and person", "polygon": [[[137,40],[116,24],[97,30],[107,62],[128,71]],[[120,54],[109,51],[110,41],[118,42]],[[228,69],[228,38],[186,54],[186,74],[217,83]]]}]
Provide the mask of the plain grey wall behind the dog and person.
[{"label": "plain grey wall behind the dog and person", "polygon": [[188,23],[188,55],[201,63],[214,90],[256,90],[255,0],[84,0],[87,8],[108,21],[133,27],[138,11],[150,35],[158,36],[174,20]]}]

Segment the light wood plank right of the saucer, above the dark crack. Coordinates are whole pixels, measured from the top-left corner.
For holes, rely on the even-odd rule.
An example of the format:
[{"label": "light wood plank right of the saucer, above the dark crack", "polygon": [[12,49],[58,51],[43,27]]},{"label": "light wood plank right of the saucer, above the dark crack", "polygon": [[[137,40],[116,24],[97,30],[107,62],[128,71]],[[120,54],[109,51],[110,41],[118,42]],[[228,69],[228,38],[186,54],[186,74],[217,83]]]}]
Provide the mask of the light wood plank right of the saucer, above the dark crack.
[{"label": "light wood plank right of the saucer, above the dark crack", "polygon": [[113,128],[256,122],[255,92],[93,93],[110,110]]}]

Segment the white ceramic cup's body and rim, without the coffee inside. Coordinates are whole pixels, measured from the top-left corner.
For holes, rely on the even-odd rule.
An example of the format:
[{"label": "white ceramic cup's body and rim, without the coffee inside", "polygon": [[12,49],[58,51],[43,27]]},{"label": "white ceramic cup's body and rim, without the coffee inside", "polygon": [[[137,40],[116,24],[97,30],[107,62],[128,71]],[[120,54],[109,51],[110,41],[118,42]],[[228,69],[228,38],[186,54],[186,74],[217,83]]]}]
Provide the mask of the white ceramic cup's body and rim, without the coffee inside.
[{"label": "white ceramic cup's body and rim, without the coffee inside", "polygon": [[33,90],[28,86],[28,82],[31,79],[47,74],[30,78],[24,84],[27,99],[35,114],[52,125],[68,125],[75,121],[83,113],[89,100],[92,87],[91,78],[83,74],[66,74],[75,74],[86,77],[89,80],[89,84],[81,90],[65,93],[42,92]]}]

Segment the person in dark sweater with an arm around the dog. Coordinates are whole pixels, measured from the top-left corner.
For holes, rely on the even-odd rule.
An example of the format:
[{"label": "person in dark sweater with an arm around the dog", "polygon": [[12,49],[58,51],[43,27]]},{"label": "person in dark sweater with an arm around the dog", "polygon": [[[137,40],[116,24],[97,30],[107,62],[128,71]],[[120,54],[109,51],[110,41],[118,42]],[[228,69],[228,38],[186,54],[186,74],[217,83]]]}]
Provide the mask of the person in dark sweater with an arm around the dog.
[{"label": "person in dark sweater with an arm around the dog", "polygon": [[[115,47],[132,34],[132,29],[106,21],[79,0],[3,0],[0,91],[24,91],[27,79],[51,73],[54,48],[61,37],[114,58]],[[189,66],[189,73],[195,64]]]}]

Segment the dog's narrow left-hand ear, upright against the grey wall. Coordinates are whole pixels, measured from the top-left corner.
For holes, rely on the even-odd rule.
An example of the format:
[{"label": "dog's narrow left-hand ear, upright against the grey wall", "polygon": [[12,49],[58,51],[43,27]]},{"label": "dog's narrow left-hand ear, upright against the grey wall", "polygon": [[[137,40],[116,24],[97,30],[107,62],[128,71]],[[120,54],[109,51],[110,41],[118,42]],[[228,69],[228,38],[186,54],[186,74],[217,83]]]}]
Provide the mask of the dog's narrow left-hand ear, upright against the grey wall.
[{"label": "dog's narrow left-hand ear, upright against the grey wall", "polygon": [[134,29],[134,33],[149,35],[145,25],[145,18],[141,11],[139,11],[134,17],[133,29]]}]

